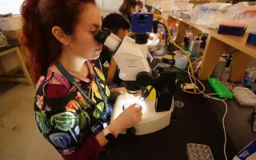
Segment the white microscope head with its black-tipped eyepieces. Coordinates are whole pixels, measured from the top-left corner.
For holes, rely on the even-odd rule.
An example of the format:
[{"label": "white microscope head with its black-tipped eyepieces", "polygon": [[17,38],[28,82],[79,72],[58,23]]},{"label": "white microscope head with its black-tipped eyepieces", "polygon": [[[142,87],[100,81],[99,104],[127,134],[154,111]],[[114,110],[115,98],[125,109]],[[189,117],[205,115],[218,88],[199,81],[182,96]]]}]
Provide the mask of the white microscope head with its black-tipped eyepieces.
[{"label": "white microscope head with its black-tipped eyepieces", "polygon": [[[146,35],[139,35],[138,39],[140,37],[147,41],[148,37]],[[123,81],[134,82],[138,73],[144,71],[150,73],[150,65],[146,59],[147,46],[146,43],[139,43],[141,39],[137,42],[128,36],[121,39],[107,29],[98,31],[95,39],[114,51],[113,58],[120,69],[119,78]]]}]

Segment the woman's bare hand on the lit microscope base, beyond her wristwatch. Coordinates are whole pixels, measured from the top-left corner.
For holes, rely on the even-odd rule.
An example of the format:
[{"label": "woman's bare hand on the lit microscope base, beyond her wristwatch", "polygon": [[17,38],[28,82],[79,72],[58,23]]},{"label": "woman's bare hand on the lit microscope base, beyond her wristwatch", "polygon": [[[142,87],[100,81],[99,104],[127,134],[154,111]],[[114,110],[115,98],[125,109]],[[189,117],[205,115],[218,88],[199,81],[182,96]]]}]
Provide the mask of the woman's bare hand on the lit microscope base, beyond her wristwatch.
[{"label": "woman's bare hand on the lit microscope base, beyond her wristwatch", "polygon": [[114,119],[113,122],[108,126],[108,130],[113,132],[115,135],[118,135],[122,130],[126,130],[132,126],[135,126],[138,122],[142,120],[142,106],[134,104],[129,106]]}]

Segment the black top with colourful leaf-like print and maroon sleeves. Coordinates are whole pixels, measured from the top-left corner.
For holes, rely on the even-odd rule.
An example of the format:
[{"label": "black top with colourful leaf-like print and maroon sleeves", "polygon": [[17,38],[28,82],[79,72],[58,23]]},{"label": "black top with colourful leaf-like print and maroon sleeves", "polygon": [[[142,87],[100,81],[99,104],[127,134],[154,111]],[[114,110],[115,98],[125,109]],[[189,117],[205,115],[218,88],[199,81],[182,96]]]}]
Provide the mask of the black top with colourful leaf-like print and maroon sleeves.
[{"label": "black top with colourful leaf-like print and maroon sleeves", "polygon": [[[94,63],[91,65],[100,78],[106,98],[109,98],[110,90],[106,86],[102,71],[94,66]],[[79,85],[102,114],[106,115],[94,76],[91,82],[81,82]],[[113,108],[108,107],[111,114]],[[95,134],[103,130],[103,121],[98,110],[94,105],[88,104],[86,98],[62,75],[48,70],[39,79],[34,99],[34,114],[40,132],[63,158],[85,160],[103,150],[95,139]]]}]

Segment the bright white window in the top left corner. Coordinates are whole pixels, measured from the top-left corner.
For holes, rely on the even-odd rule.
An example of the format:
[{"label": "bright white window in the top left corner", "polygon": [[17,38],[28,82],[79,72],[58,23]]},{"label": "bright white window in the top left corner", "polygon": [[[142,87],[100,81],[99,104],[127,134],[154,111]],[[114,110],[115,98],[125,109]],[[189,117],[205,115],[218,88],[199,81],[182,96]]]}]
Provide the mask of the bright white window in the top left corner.
[{"label": "bright white window in the top left corner", "polygon": [[24,0],[0,0],[0,14],[20,14],[19,9]]}]

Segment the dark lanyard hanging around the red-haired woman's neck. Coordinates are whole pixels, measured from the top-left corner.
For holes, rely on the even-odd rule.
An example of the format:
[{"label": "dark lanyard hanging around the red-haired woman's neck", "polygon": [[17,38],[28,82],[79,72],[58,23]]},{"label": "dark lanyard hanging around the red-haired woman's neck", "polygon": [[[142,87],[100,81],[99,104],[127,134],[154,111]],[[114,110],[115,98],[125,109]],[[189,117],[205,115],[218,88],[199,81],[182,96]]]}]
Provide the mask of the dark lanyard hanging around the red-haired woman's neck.
[{"label": "dark lanyard hanging around the red-haired woman's neck", "polygon": [[[78,91],[82,94],[82,96],[84,98],[86,98],[86,100],[90,103],[93,104],[94,107],[96,108],[96,110],[98,110],[98,113],[101,114],[101,118],[103,119],[104,122],[110,122],[110,110],[109,110],[109,106],[106,100],[106,96],[102,90],[102,86],[99,83],[98,80],[98,74],[96,73],[96,71],[94,70],[94,79],[96,82],[96,85],[98,86],[98,89],[100,90],[100,94],[102,96],[102,100],[104,102],[104,108],[106,110],[106,117],[104,116],[104,114],[102,114],[102,111],[98,109],[98,107],[96,106],[96,104],[89,98],[89,96],[87,96],[86,91],[82,90],[82,88],[78,85],[78,82],[75,81],[74,77],[72,75],[70,75],[70,73],[68,71],[66,71],[66,69],[62,66],[62,64],[60,62],[56,62],[55,66],[58,68],[58,70],[63,74],[64,77],[67,78],[67,80],[69,82],[71,82],[77,89]],[[109,120],[108,120],[109,119]]]}]

